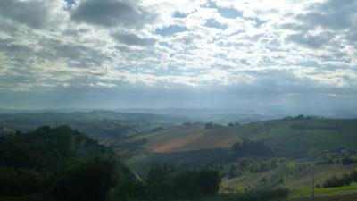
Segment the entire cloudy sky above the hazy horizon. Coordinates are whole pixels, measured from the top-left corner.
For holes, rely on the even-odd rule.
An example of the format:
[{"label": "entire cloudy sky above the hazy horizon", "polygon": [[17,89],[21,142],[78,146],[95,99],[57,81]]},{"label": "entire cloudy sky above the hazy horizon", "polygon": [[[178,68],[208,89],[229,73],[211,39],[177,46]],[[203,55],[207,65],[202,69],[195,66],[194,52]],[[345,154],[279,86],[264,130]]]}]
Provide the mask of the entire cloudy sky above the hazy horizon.
[{"label": "entire cloudy sky above the hazy horizon", "polygon": [[1,0],[0,108],[357,109],[355,0]]}]

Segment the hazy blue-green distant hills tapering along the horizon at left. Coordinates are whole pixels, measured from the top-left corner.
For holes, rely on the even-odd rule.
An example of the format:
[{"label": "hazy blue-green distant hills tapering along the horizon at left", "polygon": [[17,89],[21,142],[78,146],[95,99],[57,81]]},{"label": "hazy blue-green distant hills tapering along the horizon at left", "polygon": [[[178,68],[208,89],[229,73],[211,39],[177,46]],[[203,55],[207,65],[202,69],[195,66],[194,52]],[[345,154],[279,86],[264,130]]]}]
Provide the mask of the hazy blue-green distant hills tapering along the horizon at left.
[{"label": "hazy blue-green distant hills tapering along the horizon at left", "polygon": [[124,138],[156,127],[169,128],[184,121],[184,118],[166,115],[112,111],[0,113],[0,128],[29,132],[42,125],[69,125],[101,140]]}]

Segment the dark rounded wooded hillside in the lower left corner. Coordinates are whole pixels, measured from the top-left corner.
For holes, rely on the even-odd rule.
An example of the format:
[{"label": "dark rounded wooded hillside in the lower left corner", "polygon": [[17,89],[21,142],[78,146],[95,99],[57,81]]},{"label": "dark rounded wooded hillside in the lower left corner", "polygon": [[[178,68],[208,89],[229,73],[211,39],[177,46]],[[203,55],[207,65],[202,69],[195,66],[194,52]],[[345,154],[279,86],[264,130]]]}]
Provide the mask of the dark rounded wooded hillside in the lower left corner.
[{"label": "dark rounded wooded hillside in the lower left corner", "polygon": [[111,148],[68,126],[4,135],[0,153],[0,200],[100,201],[137,180]]}]

